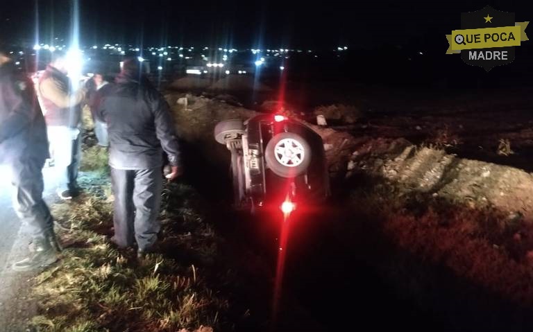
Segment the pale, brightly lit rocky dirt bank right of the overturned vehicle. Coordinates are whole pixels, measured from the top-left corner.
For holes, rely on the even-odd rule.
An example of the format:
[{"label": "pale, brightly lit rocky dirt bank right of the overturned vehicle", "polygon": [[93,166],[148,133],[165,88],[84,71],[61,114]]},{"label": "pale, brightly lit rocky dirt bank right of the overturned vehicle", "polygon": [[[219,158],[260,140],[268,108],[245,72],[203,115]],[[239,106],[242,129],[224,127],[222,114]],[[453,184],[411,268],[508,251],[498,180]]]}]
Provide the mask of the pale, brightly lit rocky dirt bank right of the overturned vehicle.
[{"label": "pale, brightly lit rocky dirt bank right of the overturned vehicle", "polygon": [[374,146],[383,143],[369,141],[356,148],[350,157],[353,166],[397,184],[403,191],[430,193],[471,207],[495,207],[533,220],[531,174],[514,167],[459,158],[435,148],[419,148],[405,140],[389,141],[386,145],[390,153],[380,155]]}]

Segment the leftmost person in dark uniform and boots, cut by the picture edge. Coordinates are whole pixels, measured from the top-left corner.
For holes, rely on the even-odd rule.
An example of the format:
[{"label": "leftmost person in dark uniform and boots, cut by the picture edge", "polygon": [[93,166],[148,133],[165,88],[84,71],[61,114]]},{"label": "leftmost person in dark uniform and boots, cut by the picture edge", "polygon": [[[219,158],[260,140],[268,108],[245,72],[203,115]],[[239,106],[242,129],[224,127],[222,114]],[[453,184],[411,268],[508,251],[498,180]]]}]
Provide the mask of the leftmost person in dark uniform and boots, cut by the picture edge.
[{"label": "leftmost person in dark uniform and boots, cut by the picture edge", "polygon": [[58,259],[53,218],[42,200],[42,167],[48,157],[46,124],[33,84],[0,46],[0,162],[11,168],[13,205],[33,237],[33,252],[13,265],[17,271],[42,268]]}]

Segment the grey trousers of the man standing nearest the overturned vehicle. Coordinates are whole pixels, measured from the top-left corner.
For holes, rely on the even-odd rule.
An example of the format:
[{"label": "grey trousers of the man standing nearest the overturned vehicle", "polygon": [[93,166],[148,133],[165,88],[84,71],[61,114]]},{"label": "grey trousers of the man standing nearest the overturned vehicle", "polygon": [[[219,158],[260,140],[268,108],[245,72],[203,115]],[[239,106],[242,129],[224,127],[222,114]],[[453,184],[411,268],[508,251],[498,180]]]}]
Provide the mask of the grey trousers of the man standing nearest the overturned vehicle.
[{"label": "grey trousers of the man standing nearest the overturned vehicle", "polygon": [[157,241],[160,230],[161,168],[111,168],[111,180],[115,195],[113,223],[117,245],[129,247],[135,240],[140,250],[149,249]]}]

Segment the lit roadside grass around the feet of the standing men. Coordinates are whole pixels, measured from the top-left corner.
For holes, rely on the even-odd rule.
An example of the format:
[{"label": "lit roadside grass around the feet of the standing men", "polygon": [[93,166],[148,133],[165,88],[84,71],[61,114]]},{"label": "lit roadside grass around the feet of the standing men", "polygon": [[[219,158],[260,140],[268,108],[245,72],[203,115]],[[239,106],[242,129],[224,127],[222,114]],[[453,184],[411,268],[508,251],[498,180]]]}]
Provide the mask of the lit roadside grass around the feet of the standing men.
[{"label": "lit roadside grass around the feet of the standing men", "polygon": [[112,198],[103,177],[103,150],[88,148],[84,159],[84,169],[92,173],[81,184],[92,184],[90,191],[52,207],[71,229],[59,234],[65,245],[60,263],[35,279],[40,310],[33,326],[46,332],[210,331],[205,326],[224,326],[229,302],[210,277],[219,240],[199,212],[194,189],[165,187],[162,252],[139,261],[135,250],[117,250],[109,240]]}]

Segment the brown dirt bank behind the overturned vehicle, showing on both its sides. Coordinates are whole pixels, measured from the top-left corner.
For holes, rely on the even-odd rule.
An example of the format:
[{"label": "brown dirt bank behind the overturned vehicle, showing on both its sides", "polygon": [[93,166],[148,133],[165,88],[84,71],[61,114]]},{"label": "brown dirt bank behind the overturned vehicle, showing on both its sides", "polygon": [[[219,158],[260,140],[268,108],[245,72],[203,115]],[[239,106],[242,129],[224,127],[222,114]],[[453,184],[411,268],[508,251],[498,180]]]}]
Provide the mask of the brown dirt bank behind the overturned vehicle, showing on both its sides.
[{"label": "brown dirt bank behind the overturned vehicle, showing on both its sides", "polygon": [[[226,119],[257,114],[209,98],[188,97],[188,108],[167,96],[180,135],[214,143],[214,125]],[[347,132],[309,125],[323,139],[332,177],[364,173],[379,177],[405,192],[429,193],[473,207],[495,207],[533,220],[533,176],[518,168],[464,159],[443,150],[418,147],[405,139],[353,137]]]}]

